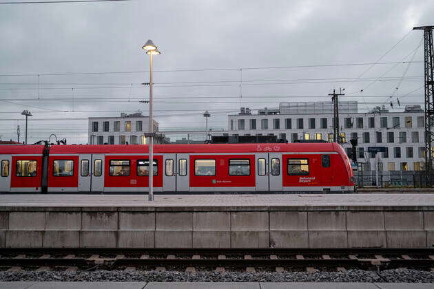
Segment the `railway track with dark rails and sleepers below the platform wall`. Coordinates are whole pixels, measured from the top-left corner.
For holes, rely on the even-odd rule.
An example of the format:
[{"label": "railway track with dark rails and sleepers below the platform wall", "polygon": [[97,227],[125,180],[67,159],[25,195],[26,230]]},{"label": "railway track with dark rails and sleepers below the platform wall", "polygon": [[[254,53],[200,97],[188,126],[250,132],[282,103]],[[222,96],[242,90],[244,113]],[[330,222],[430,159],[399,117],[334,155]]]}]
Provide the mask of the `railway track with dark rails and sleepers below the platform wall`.
[{"label": "railway track with dark rails and sleepers below the platform wall", "polygon": [[434,270],[434,248],[1,248],[0,270]]}]

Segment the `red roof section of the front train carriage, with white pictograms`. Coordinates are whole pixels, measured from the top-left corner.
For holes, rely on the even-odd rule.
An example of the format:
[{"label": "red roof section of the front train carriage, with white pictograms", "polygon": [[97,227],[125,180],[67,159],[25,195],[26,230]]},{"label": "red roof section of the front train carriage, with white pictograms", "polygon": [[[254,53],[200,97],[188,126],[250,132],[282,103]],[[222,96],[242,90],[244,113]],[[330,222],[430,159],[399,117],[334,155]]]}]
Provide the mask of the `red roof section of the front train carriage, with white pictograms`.
[{"label": "red roof section of the front train carriage, with white pictograms", "polygon": [[[296,144],[154,144],[154,153],[257,153],[342,151],[333,143]],[[54,145],[50,153],[148,153],[146,144]]]}]

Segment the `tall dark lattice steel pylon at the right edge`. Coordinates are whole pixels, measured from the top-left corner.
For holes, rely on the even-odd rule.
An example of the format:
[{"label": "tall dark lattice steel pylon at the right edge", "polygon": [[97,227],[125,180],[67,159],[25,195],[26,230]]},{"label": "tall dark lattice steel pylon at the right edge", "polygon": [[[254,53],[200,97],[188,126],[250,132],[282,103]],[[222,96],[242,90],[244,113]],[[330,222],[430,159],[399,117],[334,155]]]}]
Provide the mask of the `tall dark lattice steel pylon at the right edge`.
[{"label": "tall dark lattice steel pylon at the right edge", "polygon": [[425,169],[426,184],[431,186],[434,147],[434,78],[433,78],[433,28],[420,26],[413,30],[424,30],[425,63]]}]

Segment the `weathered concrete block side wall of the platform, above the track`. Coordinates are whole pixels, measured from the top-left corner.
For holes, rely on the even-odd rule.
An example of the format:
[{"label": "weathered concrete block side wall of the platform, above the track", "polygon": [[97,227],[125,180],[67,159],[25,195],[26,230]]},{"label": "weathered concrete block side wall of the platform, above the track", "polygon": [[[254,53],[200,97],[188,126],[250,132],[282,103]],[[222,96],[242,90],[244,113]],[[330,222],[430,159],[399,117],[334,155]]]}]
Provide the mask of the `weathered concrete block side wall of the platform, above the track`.
[{"label": "weathered concrete block side wall of the platform, above the track", "polygon": [[434,208],[0,208],[0,247],[432,248]]}]

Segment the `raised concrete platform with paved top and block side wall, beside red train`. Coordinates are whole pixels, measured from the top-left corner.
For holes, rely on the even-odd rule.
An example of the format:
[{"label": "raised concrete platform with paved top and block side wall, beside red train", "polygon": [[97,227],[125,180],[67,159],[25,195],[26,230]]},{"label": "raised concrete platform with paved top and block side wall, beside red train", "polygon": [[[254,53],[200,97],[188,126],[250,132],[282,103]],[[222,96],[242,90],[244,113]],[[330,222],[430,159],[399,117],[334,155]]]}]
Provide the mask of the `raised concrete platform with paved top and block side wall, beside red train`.
[{"label": "raised concrete platform with paved top and block side wall, beside red train", "polygon": [[433,246],[434,194],[0,195],[0,247]]}]

